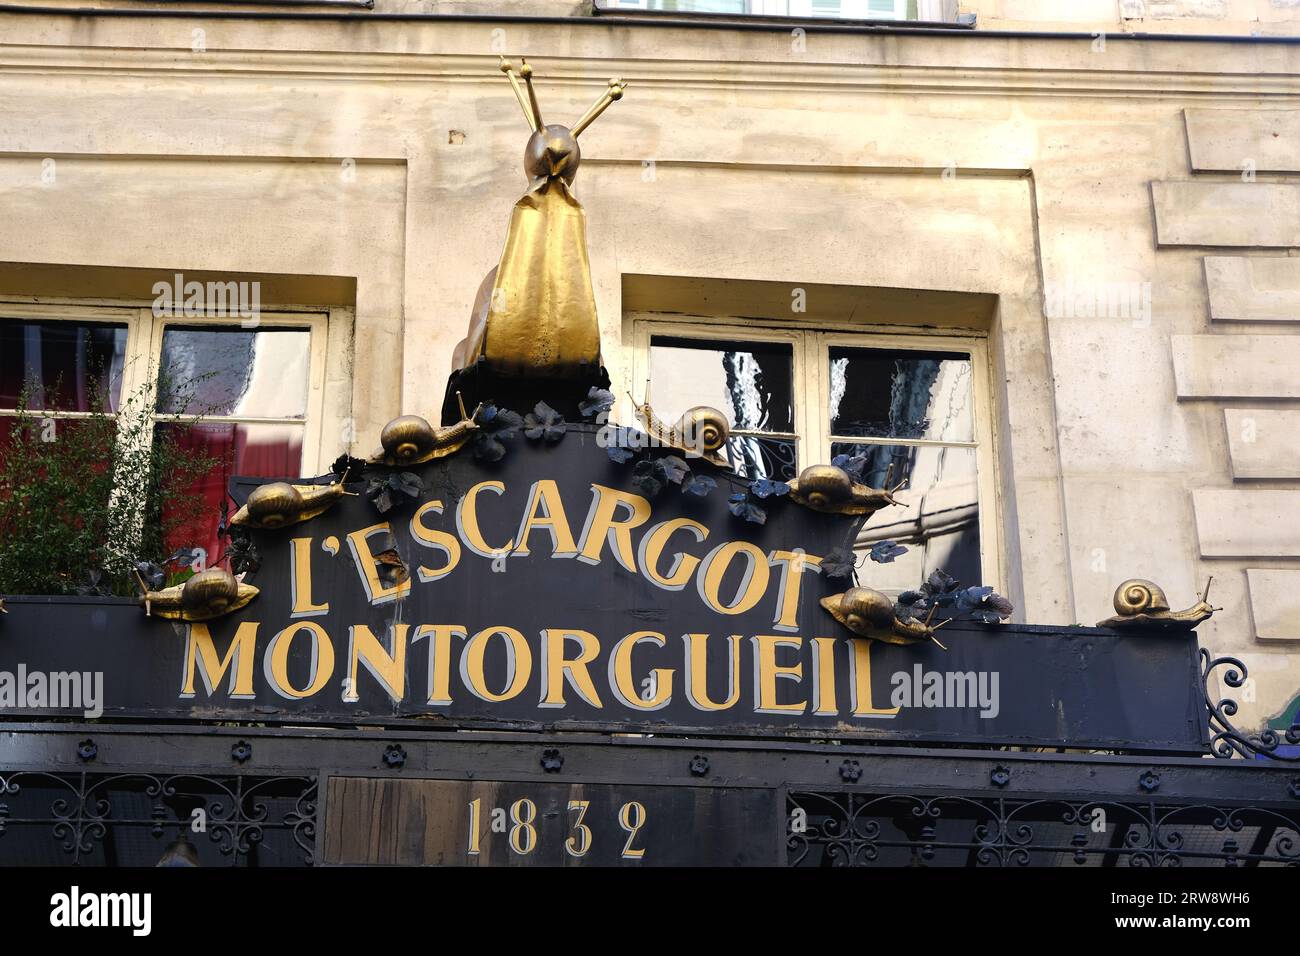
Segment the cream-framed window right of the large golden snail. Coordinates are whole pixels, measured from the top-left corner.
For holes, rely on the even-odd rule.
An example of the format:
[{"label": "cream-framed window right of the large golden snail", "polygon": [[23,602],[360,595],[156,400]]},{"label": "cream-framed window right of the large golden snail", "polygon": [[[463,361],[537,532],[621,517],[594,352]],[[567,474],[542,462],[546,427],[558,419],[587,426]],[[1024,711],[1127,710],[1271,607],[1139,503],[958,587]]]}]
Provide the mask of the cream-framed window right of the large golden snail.
[{"label": "cream-framed window right of the large golden snail", "polygon": [[672,423],[693,405],[727,412],[737,473],[785,480],[853,455],[866,459],[870,485],[906,483],[858,546],[892,540],[907,553],[859,563],[864,583],[897,592],[940,568],[1000,583],[984,337],[653,317],[634,329],[633,375],[655,414]]}]

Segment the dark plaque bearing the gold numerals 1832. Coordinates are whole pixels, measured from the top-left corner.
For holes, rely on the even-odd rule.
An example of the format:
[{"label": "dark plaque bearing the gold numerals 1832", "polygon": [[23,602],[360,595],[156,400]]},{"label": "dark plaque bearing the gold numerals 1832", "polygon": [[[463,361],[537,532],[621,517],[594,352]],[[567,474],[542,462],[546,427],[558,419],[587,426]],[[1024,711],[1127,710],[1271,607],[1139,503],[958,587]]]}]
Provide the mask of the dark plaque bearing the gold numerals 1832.
[{"label": "dark plaque bearing the gold numerals 1832", "polygon": [[329,864],[772,866],[785,855],[772,788],[332,777],[326,790]]}]

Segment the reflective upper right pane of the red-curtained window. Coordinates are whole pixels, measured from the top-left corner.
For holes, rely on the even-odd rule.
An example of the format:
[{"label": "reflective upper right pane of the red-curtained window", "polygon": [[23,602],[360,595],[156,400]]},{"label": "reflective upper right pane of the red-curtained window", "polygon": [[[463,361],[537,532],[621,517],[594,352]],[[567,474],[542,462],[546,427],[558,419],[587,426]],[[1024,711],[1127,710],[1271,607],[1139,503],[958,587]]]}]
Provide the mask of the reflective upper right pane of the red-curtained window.
[{"label": "reflective upper right pane of the red-curtained window", "polygon": [[308,329],[168,326],[159,411],[303,418],[311,368]]}]

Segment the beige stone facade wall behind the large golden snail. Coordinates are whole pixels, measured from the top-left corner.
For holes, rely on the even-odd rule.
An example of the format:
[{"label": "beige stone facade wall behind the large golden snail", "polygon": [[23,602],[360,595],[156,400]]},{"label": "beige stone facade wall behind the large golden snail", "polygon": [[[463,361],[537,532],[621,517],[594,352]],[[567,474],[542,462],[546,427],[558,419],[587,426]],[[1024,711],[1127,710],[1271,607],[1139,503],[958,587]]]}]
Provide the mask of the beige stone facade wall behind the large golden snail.
[{"label": "beige stone facade wall behind the large golden snail", "polygon": [[[1201,641],[1249,665],[1247,719],[1300,689],[1300,46],[3,14],[0,38],[0,261],[355,282],[316,466],[348,424],[364,453],[437,414],[523,189],[498,49],[547,117],[625,77],[577,181],[620,394],[630,276],[996,297],[1018,618],[1096,622],[1130,576],[1187,606],[1213,574]],[[104,274],[64,294],[112,298]],[[1098,315],[1117,291],[1136,311]]]}]

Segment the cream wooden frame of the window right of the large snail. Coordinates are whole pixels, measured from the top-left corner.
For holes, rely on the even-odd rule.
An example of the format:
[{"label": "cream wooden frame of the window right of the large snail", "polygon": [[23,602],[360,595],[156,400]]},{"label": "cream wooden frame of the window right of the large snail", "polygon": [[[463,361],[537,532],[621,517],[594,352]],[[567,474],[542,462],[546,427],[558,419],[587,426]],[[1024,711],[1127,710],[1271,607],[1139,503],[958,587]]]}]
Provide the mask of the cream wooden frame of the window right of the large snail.
[{"label": "cream wooden frame of the window right of the large snail", "polygon": [[[792,328],[789,323],[740,317],[681,316],[634,313],[632,320],[632,381],[637,399],[650,375],[650,339],[653,336],[698,338],[705,341],[789,342],[793,345],[792,375],[794,401],[796,470],[831,460],[829,418],[829,350],[889,349],[913,351],[957,351],[971,356],[971,392],[974,402],[974,441],[940,441],[931,438],[845,438],[872,445],[931,445],[974,447],[979,496],[980,584],[1002,592],[1006,587],[1002,506],[998,493],[998,429],[993,407],[989,372],[988,336],[979,332],[948,332],[915,326],[855,326],[846,323],[809,321]],[[654,392],[651,382],[651,406]],[[624,420],[632,420],[630,405],[623,406]],[[772,434],[772,433],[760,433]],[[974,581],[968,581],[972,584]]]}]

